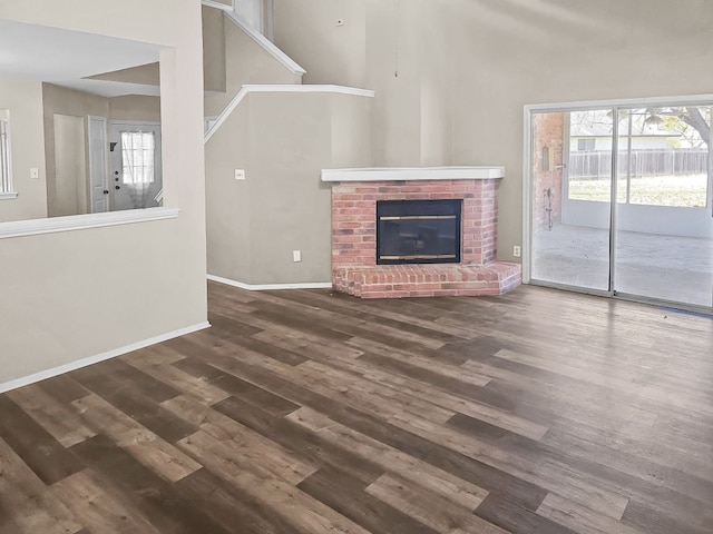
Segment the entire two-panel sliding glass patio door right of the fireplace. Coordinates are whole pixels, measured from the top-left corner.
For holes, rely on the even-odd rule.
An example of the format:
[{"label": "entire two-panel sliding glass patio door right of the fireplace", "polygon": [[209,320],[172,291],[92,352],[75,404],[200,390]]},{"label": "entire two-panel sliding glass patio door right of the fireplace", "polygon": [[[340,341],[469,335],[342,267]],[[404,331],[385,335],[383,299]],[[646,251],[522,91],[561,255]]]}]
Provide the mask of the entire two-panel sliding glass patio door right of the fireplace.
[{"label": "entire two-panel sliding glass patio door right of the fireplace", "polygon": [[713,312],[711,110],[530,109],[526,281]]}]

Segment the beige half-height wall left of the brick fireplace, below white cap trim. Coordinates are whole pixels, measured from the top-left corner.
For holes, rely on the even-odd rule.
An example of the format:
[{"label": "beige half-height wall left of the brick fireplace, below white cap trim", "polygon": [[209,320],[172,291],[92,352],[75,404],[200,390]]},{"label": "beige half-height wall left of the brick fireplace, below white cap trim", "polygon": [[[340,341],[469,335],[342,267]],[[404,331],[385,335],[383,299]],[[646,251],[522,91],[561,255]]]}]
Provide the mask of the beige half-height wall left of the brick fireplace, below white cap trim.
[{"label": "beige half-height wall left of the brick fireplace, below white cap trim", "polygon": [[371,165],[370,103],[294,92],[241,102],[206,145],[209,274],[255,285],[330,281],[331,187],[320,172]]}]

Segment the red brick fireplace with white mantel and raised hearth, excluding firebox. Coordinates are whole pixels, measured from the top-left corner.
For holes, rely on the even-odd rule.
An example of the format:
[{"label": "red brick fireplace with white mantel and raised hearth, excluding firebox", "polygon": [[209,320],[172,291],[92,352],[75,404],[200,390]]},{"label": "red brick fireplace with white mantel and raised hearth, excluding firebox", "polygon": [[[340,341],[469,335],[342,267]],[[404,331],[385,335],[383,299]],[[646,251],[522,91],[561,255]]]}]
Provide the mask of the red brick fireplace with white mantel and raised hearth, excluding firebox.
[{"label": "red brick fireplace with white mantel and raised hearth, excluding firebox", "polygon": [[[335,169],[332,182],[332,285],[362,298],[500,295],[521,283],[519,264],[497,260],[501,167]],[[458,264],[378,265],[377,202],[461,200]]]}]

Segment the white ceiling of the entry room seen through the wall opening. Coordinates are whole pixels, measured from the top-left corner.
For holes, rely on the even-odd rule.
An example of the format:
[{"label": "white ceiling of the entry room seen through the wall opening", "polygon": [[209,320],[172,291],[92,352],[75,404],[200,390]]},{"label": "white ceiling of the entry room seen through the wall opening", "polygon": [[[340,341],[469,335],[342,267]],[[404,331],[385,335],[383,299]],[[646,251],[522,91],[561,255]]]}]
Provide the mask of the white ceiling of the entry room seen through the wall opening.
[{"label": "white ceiling of the entry room seen through the wall opening", "polygon": [[157,95],[158,88],[89,76],[158,61],[160,47],[0,19],[0,78],[48,81],[107,97]]}]

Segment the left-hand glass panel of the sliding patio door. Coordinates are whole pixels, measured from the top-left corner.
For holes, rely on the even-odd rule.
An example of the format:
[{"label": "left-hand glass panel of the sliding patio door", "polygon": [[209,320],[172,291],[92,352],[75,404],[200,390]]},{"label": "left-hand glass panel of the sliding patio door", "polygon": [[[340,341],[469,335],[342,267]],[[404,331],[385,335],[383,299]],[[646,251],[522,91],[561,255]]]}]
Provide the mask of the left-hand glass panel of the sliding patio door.
[{"label": "left-hand glass panel of the sliding patio door", "polygon": [[534,113],[534,280],[609,290],[612,139],[611,110]]}]

